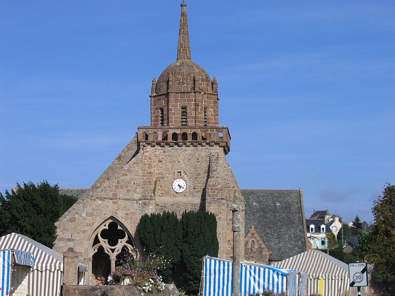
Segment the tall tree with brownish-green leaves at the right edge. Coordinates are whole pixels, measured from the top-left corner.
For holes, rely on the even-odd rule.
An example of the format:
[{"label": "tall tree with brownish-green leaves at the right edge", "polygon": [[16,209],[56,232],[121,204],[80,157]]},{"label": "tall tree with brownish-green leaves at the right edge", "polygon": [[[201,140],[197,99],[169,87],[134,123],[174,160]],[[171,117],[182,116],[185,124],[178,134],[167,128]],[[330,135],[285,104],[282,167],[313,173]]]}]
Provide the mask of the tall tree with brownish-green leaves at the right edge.
[{"label": "tall tree with brownish-green leaves at the right edge", "polygon": [[387,185],[373,202],[373,230],[368,259],[379,280],[395,280],[395,185]]}]

